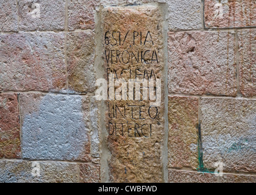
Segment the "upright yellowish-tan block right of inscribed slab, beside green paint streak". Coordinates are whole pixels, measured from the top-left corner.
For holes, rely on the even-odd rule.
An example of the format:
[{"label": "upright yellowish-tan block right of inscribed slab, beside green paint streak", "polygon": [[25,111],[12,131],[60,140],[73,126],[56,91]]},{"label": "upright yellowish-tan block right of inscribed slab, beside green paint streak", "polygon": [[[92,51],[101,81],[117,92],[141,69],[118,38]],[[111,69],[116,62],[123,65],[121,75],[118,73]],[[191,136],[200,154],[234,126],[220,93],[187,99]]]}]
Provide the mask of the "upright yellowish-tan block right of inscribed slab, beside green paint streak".
[{"label": "upright yellowish-tan block right of inscribed slab, beside green paint streak", "polygon": [[168,166],[197,169],[198,99],[169,96],[168,119]]}]

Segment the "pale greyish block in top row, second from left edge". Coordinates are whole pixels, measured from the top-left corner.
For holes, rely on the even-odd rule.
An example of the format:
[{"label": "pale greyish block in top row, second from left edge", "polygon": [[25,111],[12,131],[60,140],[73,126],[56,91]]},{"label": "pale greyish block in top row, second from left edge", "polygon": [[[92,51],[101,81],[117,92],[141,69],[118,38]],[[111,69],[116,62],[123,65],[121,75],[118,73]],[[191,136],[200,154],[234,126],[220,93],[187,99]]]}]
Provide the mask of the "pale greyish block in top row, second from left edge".
[{"label": "pale greyish block in top row, second from left edge", "polygon": [[20,0],[18,10],[20,30],[64,30],[65,0]]}]

